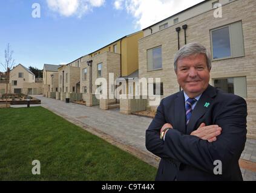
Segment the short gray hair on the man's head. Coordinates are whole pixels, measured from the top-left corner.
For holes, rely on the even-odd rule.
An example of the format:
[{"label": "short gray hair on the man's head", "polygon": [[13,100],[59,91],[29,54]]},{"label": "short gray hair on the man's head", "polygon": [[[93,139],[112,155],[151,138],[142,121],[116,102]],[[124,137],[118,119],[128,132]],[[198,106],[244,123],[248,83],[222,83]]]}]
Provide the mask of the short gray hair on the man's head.
[{"label": "short gray hair on the man's head", "polygon": [[207,67],[209,71],[211,71],[211,68],[212,68],[211,54],[208,52],[205,46],[197,42],[192,42],[180,48],[180,50],[175,54],[174,56],[175,72],[177,72],[177,63],[180,59],[184,59],[185,57],[189,57],[191,55],[196,55],[196,54],[205,54]]}]

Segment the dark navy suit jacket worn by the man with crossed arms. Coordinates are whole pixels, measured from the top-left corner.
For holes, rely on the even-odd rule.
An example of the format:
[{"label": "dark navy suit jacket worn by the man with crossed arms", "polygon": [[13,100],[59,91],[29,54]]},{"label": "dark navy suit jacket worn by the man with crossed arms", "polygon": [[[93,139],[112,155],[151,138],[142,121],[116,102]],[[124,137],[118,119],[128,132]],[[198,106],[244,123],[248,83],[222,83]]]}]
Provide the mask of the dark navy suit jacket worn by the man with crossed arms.
[{"label": "dark navy suit jacket worn by the man with crossed arms", "polygon": [[[156,180],[243,180],[238,160],[245,148],[246,116],[243,98],[209,85],[186,126],[183,91],[164,98],[146,130],[147,150],[161,157]],[[209,143],[190,135],[202,122],[222,127],[217,141]],[[173,129],[166,132],[163,141],[160,129],[165,123]],[[222,165],[214,165],[215,160]],[[221,175],[214,174],[216,166],[222,166]]]}]

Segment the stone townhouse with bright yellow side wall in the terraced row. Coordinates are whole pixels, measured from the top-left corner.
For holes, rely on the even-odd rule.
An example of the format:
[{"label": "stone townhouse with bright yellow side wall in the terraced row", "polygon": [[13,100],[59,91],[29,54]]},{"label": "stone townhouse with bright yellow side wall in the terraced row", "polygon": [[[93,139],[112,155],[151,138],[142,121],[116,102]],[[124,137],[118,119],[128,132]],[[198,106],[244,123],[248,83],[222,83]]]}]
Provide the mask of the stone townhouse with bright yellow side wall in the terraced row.
[{"label": "stone townhouse with bright yellow side wall in the terraced row", "polygon": [[[139,69],[137,41],[142,37],[143,32],[139,31],[82,57],[80,92],[83,93],[83,99],[87,106],[97,104],[95,93],[100,87],[95,83],[97,78],[107,80],[108,99],[98,101],[100,108],[107,110],[110,104],[119,103],[119,100],[116,99],[119,93],[115,92],[117,85],[110,86],[109,75],[113,74],[113,81],[111,80],[113,83],[116,83],[117,78],[122,77],[123,84],[126,84],[128,77],[132,78],[133,75],[136,75],[136,71]],[[110,99],[110,95],[114,99]]]}]

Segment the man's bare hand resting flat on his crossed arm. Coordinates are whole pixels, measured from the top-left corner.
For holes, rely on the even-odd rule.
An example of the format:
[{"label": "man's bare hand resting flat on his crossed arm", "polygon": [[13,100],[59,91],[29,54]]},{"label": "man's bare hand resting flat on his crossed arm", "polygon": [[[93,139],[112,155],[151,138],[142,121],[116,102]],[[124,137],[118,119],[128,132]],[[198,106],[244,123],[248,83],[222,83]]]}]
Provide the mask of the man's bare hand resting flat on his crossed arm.
[{"label": "man's bare hand resting flat on his crossed arm", "polygon": [[222,133],[222,128],[218,125],[208,125],[202,123],[197,130],[193,131],[191,135],[197,136],[201,139],[207,140],[208,142],[214,142],[217,140],[217,136]]}]

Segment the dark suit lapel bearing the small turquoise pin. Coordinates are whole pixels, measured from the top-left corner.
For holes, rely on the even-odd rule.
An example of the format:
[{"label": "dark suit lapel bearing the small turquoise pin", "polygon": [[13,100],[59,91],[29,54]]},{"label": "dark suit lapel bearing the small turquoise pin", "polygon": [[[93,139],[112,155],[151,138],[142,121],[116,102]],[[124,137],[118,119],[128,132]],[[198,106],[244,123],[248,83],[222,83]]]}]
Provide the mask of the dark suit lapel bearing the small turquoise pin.
[{"label": "dark suit lapel bearing the small turquoise pin", "polygon": [[202,96],[200,97],[199,101],[195,105],[194,110],[192,111],[191,118],[187,125],[186,134],[191,134],[192,131],[196,130],[195,124],[197,121],[202,118],[203,115],[207,112],[208,109],[212,106],[213,97],[216,95],[214,87],[211,85],[203,92]]}]

